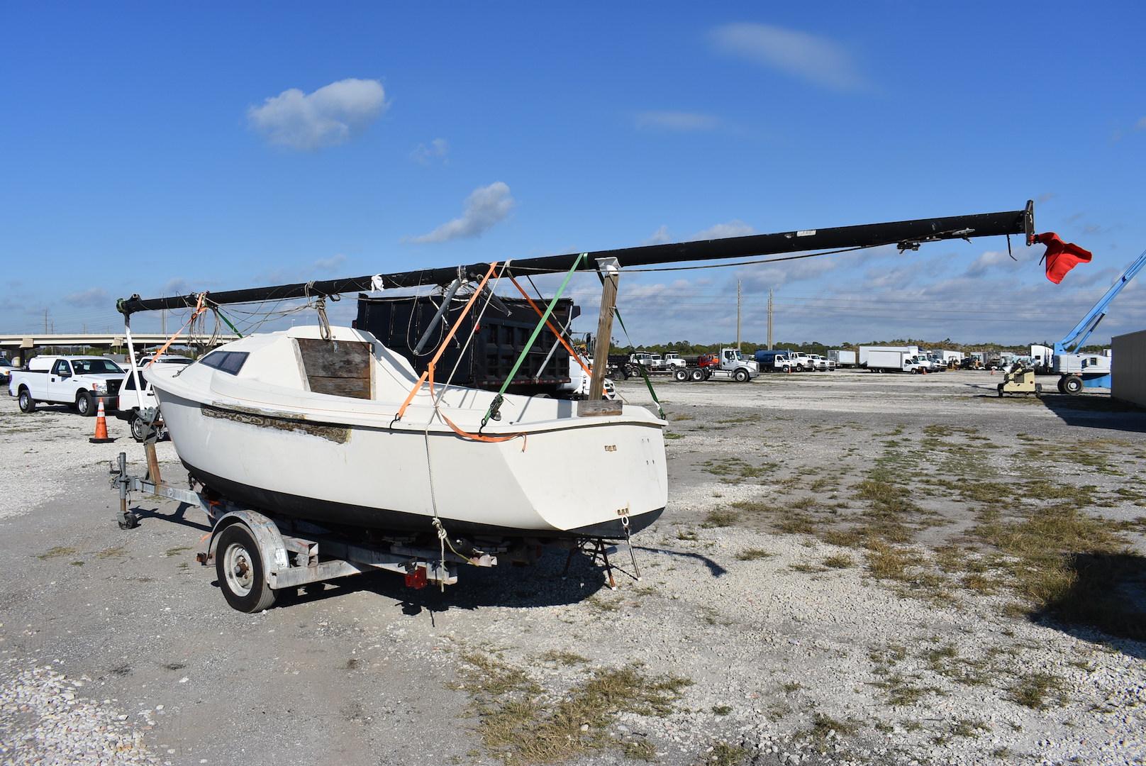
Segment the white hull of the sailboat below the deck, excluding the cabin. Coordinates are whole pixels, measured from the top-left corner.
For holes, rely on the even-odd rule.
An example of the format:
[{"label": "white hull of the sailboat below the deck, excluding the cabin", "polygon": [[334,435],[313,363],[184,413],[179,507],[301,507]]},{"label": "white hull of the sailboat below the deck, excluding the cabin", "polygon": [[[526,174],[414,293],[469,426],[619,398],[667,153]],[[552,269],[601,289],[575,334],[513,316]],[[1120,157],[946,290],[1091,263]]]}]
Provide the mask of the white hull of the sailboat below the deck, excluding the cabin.
[{"label": "white hull of the sailboat below the deck, excluding the cabin", "polygon": [[567,417],[485,443],[440,424],[368,425],[188,396],[195,386],[152,377],[188,470],[233,501],[286,516],[426,532],[437,515],[450,533],[623,537],[622,521],[637,531],[667,503],[661,423],[645,416]]}]

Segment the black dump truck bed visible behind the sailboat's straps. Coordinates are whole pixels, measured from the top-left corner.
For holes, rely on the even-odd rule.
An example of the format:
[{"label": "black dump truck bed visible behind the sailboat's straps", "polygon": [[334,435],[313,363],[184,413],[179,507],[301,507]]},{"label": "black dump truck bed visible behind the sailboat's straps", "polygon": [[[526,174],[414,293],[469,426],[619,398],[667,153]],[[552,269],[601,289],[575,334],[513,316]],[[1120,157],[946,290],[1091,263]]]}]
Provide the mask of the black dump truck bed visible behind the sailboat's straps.
[{"label": "black dump truck bed visible behind the sailboat's straps", "polygon": [[[453,383],[478,389],[497,390],[509,375],[518,354],[525,347],[529,335],[537,326],[537,313],[521,298],[500,298],[505,312],[500,311],[496,303],[486,310],[481,323],[465,346],[466,338],[473,329],[473,322],[480,311],[484,298],[478,298],[473,310],[462,320],[462,326],[450,341],[449,346],[438,360],[434,380],[445,382],[461,359]],[[383,345],[406,357],[414,369],[423,373],[433,359],[449,328],[458,320],[465,307],[465,298],[455,297],[442,321],[430,334],[429,342],[421,353],[414,350],[418,341],[430,327],[441,296],[406,296],[398,298],[372,298],[359,295],[358,320],[354,327],[371,333]],[[537,302],[539,306],[548,305],[548,299]],[[544,308],[542,308],[543,311]],[[507,313],[508,312],[508,313]],[[580,311],[571,298],[562,298],[554,307],[550,322],[560,329],[570,322],[570,314],[575,318]],[[550,355],[554,345],[557,350]],[[464,351],[463,351],[464,347]],[[549,361],[545,361],[545,358]],[[544,362],[544,368],[542,368]],[[549,393],[563,383],[570,382],[570,354],[548,328],[543,328],[533,344],[525,361],[518,369],[510,385],[511,393]]]}]

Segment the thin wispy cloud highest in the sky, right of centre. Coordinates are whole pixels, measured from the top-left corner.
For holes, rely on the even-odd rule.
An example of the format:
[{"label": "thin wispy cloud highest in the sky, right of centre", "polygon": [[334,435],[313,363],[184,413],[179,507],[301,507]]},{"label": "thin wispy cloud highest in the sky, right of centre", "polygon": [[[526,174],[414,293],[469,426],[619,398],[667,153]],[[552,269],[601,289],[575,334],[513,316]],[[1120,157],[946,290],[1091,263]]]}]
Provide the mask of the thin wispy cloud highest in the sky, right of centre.
[{"label": "thin wispy cloud highest in the sky, right of centre", "polygon": [[709,36],[717,50],[778,69],[833,91],[862,91],[868,81],[840,44],[769,24],[723,24]]}]

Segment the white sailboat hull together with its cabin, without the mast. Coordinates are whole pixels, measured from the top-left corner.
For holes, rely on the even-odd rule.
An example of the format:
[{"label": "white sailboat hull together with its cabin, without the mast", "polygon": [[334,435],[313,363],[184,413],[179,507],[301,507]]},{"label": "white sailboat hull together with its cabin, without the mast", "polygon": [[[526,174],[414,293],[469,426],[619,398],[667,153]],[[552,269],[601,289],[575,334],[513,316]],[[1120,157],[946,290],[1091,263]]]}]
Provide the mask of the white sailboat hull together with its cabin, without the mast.
[{"label": "white sailboat hull together with its cabin, without the mast", "polygon": [[507,394],[482,428],[495,392],[431,390],[363,330],[253,335],[148,380],[197,480],[327,526],[417,532],[438,517],[470,537],[623,538],[668,500],[665,423],[644,407]]}]

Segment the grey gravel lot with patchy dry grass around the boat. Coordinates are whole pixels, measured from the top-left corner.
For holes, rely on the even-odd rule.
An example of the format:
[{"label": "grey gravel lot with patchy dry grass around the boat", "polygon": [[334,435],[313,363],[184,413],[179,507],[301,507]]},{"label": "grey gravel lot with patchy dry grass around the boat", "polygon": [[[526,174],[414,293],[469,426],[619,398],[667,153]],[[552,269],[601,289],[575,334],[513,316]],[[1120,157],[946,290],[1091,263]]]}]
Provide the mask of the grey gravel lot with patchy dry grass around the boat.
[{"label": "grey gravel lot with patchy dry grass around the boat", "polygon": [[[142,462],[126,424],[92,445],[93,420],[2,398],[0,761],[1146,763],[1146,413],[999,380],[666,381],[670,503],[641,581],[610,591],[586,558],[563,579],[554,552],[260,615],[195,563],[196,514],[135,498],[141,526],[116,526],[108,463]],[[1047,507],[1121,556],[1118,635],[1017,585]]]}]

